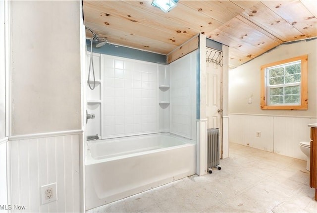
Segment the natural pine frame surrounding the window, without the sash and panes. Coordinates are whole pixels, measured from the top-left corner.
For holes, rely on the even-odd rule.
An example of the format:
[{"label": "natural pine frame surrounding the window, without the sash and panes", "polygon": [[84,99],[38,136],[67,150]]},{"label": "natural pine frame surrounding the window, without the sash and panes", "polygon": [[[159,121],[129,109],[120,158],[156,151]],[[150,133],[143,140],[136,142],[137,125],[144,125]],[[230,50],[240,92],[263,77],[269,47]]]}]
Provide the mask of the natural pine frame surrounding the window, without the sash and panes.
[{"label": "natural pine frame surrounding the window, without the sash and panes", "polygon": [[[300,105],[267,105],[267,77],[266,68],[278,66],[286,63],[295,61],[301,61],[301,82],[300,82]],[[307,110],[308,109],[308,87],[307,87],[307,76],[308,76],[308,55],[301,55],[293,58],[288,58],[281,61],[265,64],[261,66],[261,109],[285,109],[285,110]]]}]

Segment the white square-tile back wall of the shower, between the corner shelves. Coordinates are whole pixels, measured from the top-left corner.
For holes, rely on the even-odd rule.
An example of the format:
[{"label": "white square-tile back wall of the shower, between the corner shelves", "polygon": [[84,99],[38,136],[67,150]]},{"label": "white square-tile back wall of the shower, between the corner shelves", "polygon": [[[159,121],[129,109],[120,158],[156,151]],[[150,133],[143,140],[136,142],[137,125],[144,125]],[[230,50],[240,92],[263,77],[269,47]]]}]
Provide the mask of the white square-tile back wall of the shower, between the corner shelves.
[{"label": "white square-tile back wall of the shower, between the corner shelves", "polygon": [[103,56],[104,136],[158,132],[158,64]]}]

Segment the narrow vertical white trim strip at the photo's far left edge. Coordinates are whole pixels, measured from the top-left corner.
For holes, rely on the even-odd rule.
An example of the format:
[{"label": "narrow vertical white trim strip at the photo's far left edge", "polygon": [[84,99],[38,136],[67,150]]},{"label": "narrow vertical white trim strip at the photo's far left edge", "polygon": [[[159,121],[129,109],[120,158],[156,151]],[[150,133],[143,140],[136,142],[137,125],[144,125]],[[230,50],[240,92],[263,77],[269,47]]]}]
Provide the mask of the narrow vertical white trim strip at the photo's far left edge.
[{"label": "narrow vertical white trim strip at the photo's far left edge", "polygon": [[5,48],[5,136],[11,135],[11,2],[4,1],[4,48]]}]

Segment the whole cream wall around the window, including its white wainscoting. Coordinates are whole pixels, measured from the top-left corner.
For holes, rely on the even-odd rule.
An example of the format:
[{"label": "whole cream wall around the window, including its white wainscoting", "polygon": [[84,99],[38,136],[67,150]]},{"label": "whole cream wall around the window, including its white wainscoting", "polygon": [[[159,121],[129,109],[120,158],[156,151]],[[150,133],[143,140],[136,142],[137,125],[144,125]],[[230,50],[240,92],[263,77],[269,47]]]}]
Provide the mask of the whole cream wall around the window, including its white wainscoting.
[{"label": "whole cream wall around the window, including its white wainscoting", "polygon": [[[317,117],[316,39],[280,45],[229,71],[229,140],[269,152],[306,160],[300,141],[310,141],[310,123]],[[261,110],[260,67],[308,54],[308,110]],[[253,98],[248,104],[248,98]],[[261,137],[256,137],[256,132]]]}]

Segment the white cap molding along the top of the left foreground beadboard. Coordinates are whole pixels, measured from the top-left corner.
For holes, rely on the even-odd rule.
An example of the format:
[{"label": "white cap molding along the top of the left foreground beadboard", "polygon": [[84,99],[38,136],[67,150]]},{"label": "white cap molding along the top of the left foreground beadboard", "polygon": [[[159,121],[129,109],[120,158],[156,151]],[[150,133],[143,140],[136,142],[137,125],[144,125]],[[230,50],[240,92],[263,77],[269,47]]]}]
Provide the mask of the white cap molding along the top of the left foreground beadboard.
[{"label": "white cap molding along the top of the left foreground beadboard", "polygon": [[8,141],[18,141],[25,139],[34,139],[34,138],[47,138],[47,137],[55,137],[55,136],[63,136],[63,135],[77,135],[83,134],[83,130],[69,130],[69,131],[60,131],[60,132],[45,132],[45,133],[37,133],[37,134],[27,134],[27,135],[14,135],[10,136]]}]

